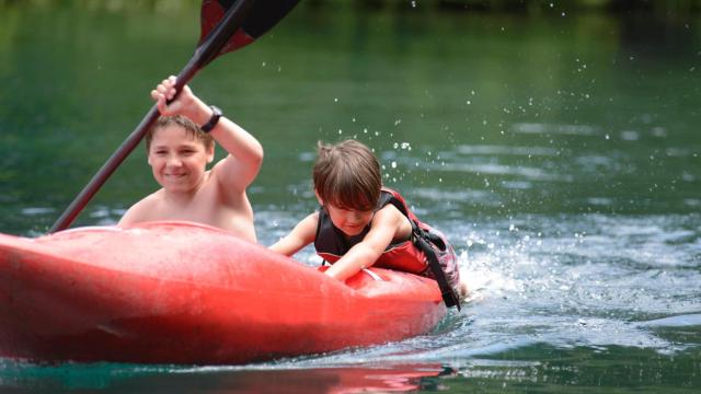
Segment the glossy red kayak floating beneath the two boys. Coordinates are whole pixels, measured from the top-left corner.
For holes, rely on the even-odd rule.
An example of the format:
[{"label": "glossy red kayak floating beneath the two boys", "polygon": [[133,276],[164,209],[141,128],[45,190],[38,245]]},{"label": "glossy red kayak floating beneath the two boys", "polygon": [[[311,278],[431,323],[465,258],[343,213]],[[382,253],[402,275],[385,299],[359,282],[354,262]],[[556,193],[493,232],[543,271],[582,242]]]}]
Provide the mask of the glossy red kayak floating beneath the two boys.
[{"label": "glossy red kayak floating beneath the two boys", "polygon": [[0,357],[245,363],[400,340],[445,314],[434,280],[343,283],[207,225],[0,234]]}]

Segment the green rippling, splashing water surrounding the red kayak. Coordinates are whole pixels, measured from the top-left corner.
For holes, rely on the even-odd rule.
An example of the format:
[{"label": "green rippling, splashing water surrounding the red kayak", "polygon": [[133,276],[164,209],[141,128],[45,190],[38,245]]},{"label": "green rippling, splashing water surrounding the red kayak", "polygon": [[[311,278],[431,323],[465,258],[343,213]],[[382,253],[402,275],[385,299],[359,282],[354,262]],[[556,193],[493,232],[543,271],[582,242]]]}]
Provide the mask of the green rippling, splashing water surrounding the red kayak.
[{"label": "green rippling, splashing water surrounding the red kayak", "polygon": [[[699,16],[312,4],[192,83],[265,148],[260,241],[314,209],[317,140],[357,137],[449,234],[478,299],[402,343],[237,367],[0,360],[0,389],[701,387]],[[0,232],[48,229],[185,65],[197,21],[196,2],[0,2]],[[156,187],[138,149],[77,225]]]}]

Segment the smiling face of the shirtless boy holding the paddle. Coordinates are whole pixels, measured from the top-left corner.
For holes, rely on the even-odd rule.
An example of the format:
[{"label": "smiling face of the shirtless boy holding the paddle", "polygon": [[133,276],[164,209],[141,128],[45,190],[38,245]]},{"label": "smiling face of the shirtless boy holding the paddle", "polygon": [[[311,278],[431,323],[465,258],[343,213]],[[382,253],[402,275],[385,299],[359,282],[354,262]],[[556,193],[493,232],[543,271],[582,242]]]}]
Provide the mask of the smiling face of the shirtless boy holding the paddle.
[{"label": "smiling face of the shirtless boy holding the paddle", "polygon": [[208,150],[183,127],[168,125],[153,134],[148,163],[166,192],[188,193],[204,182],[205,167],[214,155],[214,147]]}]

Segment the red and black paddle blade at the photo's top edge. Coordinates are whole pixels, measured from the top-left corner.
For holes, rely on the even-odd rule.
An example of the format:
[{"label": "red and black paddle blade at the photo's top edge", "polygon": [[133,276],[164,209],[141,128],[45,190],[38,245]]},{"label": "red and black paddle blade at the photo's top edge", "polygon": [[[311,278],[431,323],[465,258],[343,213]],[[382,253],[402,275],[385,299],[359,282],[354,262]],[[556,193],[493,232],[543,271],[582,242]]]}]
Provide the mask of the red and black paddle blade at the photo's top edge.
[{"label": "red and black paddle blade at the photo's top edge", "polygon": [[[202,3],[202,45],[229,9],[244,0],[204,0]],[[243,24],[216,56],[237,50],[261,37],[297,5],[299,0],[253,0]]]}]

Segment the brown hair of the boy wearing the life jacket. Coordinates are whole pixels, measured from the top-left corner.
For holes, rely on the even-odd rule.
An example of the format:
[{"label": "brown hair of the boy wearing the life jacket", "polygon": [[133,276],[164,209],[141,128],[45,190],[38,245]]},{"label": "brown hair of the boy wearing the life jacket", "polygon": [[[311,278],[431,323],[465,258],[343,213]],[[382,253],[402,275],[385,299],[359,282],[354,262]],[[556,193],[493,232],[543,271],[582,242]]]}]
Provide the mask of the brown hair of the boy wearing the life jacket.
[{"label": "brown hair of the boy wearing the life jacket", "polygon": [[324,204],[342,209],[368,211],[380,198],[380,164],[368,147],[346,140],[336,144],[317,144],[312,171],[314,190]]}]

